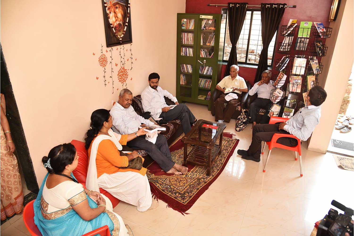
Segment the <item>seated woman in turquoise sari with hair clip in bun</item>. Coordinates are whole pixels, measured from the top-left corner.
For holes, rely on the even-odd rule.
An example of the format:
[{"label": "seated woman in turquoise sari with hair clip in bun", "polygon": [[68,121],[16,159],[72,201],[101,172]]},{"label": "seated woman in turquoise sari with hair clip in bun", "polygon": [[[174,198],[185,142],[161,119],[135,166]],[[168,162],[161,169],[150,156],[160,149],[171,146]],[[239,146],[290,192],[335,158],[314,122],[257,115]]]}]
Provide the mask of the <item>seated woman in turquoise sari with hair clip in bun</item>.
[{"label": "seated woman in turquoise sari with hair clip in bun", "polygon": [[[108,225],[111,235],[133,235],[112,203],[99,192],[83,188],[72,174],[79,157],[74,145],[52,148],[42,158],[48,173],[33,204],[34,223],[42,235],[83,235]],[[98,203],[96,203],[98,202]]]}]

